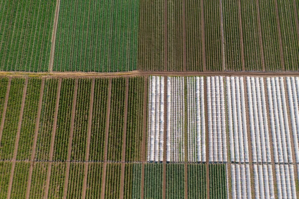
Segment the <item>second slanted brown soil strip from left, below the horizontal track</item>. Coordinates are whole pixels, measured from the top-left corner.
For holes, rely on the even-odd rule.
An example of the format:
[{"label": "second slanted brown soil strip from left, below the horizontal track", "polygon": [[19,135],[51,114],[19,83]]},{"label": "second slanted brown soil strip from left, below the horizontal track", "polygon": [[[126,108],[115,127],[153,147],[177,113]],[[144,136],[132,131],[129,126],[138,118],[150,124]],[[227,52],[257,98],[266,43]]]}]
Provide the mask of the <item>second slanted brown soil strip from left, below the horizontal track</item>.
[{"label": "second slanted brown soil strip from left, below the horizontal track", "polygon": [[[20,116],[19,116],[19,122],[18,122],[18,127],[17,127],[17,133],[16,133],[16,139],[15,139],[15,144],[14,144],[14,151],[13,151],[12,160],[16,160],[17,148],[18,148],[18,143],[19,143],[19,139],[20,139],[20,132],[21,132],[21,127],[22,127],[23,112],[24,112],[24,107],[25,107],[27,86],[28,86],[28,78],[26,78],[26,80],[25,80],[25,86],[24,86],[24,89],[23,89],[22,105],[21,105],[21,111],[20,111]],[[8,185],[7,199],[10,199],[10,195],[11,195],[15,163],[16,163],[15,161],[12,162],[9,185]]]}]

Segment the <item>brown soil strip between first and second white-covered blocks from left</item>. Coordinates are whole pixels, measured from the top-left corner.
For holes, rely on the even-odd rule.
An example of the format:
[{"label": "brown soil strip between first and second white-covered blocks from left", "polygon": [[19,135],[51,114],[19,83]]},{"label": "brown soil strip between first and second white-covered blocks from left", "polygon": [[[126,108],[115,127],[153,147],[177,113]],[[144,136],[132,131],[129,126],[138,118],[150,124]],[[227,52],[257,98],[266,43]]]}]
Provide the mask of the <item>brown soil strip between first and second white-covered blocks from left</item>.
[{"label": "brown soil strip between first and second white-covered blocks from left", "polygon": [[163,133],[163,187],[162,199],[166,199],[166,132],[167,132],[167,76],[164,76],[164,133]]}]

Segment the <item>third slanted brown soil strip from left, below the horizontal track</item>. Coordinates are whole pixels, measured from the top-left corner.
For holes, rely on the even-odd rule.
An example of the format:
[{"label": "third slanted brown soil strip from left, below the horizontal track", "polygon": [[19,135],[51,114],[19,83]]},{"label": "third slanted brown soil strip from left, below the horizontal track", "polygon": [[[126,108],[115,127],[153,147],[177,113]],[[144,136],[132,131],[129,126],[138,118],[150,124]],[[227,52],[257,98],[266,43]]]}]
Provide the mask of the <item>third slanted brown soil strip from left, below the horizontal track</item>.
[{"label": "third slanted brown soil strip from left, below the horizontal track", "polygon": [[34,130],[34,138],[33,138],[33,145],[32,145],[32,152],[31,152],[31,158],[30,158],[30,160],[32,162],[31,162],[30,168],[29,168],[29,177],[28,177],[28,184],[27,184],[27,190],[26,190],[26,199],[29,199],[29,196],[30,196],[31,180],[32,180],[33,165],[34,165],[33,161],[34,161],[34,157],[35,157],[36,143],[37,143],[37,137],[38,137],[39,120],[40,120],[40,114],[41,114],[44,86],[45,86],[45,79],[43,78],[41,80],[41,87],[40,87],[40,93],[39,93],[38,110],[37,110],[35,130]]}]

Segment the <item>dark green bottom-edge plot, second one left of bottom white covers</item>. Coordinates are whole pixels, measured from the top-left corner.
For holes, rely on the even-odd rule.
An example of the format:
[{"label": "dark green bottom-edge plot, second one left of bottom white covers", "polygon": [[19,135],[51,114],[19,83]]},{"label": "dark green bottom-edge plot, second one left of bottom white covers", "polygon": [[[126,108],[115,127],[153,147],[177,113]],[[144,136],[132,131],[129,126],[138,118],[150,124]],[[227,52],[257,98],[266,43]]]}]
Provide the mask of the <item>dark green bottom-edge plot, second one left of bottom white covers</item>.
[{"label": "dark green bottom-edge plot, second one left of bottom white covers", "polygon": [[187,167],[188,199],[206,199],[206,165],[188,164]]}]

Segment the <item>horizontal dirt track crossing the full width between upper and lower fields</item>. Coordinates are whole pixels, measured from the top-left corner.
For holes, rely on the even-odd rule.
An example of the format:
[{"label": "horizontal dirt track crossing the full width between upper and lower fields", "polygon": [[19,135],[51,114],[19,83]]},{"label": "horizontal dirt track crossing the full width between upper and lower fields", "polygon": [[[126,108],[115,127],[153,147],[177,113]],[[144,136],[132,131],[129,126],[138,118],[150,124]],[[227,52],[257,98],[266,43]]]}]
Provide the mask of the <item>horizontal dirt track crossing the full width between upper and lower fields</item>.
[{"label": "horizontal dirt track crossing the full width between upper and lower fields", "polygon": [[6,77],[61,77],[61,78],[112,78],[112,77],[134,77],[134,76],[255,76],[255,77],[274,77],[274,76],[299,76],[299,71],[289,72],[260,72],[260,71],[236,71],[236,72],[148,72],[148,71],[129,71],[129,72],[109,72],[109,73],[96,73],[96,72],[0,72],[0,76]]}]

